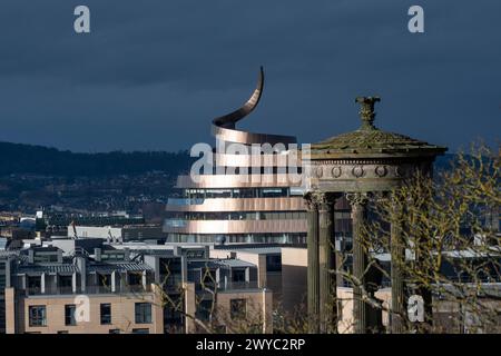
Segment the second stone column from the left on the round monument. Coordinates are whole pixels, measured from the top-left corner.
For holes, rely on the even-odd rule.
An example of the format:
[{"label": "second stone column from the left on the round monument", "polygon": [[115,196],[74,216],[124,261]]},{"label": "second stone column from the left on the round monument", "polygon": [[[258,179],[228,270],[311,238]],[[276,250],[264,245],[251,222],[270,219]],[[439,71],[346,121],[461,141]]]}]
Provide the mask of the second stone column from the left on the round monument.
[{"label": "second stone column from the left on the round monument", "polygon": [[334,256],[334,196],[323,194],[318,197],[318,269],[320,269],[320,332],[337,329],[335,322],[335,256]]}]

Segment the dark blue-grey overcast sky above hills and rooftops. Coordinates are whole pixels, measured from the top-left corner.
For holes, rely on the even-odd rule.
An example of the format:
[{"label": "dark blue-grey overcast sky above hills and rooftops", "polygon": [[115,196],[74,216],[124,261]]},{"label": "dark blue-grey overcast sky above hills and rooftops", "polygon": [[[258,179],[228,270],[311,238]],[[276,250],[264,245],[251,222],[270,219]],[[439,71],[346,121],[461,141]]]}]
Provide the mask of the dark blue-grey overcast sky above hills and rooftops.
[{"label": "dark blue-grey overcast sky above hills and rooftops", "polygon": [[[73,31],[73,9],[91,33]],[[407,9],[425,33],[407,31]],[[313,142],[376,125],[452,149],[501,132],[501,1],[1,0],[0,140],[76,151],[178,150],[210,121]]]}]

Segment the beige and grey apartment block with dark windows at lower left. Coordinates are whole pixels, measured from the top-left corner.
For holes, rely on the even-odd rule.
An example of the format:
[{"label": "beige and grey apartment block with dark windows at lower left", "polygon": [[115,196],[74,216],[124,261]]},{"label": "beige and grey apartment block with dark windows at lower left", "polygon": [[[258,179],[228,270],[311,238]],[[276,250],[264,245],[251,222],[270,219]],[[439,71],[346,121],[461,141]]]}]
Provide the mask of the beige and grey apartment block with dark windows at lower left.
[{"label": "beige and grey apartment block with dark windows at lower left", "polygon": [[208,246],[57,238],[0,257],[2,333],[235,333],[237,319],[273,330],[257,267]]}]

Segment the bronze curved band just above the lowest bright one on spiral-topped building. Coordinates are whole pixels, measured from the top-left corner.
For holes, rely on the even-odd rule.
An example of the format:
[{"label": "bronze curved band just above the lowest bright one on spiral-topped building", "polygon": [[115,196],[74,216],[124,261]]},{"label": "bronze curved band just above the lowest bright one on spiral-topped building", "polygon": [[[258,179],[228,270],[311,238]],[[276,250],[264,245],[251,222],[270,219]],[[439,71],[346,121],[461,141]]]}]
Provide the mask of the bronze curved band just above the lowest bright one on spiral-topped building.
[{"label": "bronze curved band just above the lowest bright one on spiral-topped building", "polygon": [[166,211],[304,211],[302,197],[169,199]]}]

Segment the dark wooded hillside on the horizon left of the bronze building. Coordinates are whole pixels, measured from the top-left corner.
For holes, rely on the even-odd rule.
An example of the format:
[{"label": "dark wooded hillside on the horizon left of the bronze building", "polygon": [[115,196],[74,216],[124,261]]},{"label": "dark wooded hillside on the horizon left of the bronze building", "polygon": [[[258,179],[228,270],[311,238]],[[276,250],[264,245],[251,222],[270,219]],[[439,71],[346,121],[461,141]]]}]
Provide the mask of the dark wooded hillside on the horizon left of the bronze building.
[{"label": "dark wooded hillside on the horizon left of the bronze building", "polygon": [[188,152],[112,151],[75,154],[42,146],[0,142],[0,175],[110,176],[159,170],[177,175],[189,170]]}]

